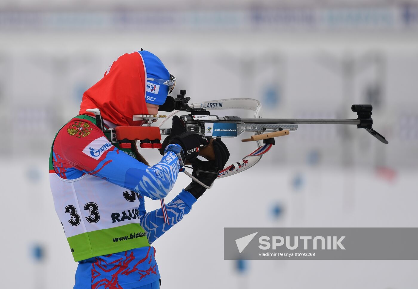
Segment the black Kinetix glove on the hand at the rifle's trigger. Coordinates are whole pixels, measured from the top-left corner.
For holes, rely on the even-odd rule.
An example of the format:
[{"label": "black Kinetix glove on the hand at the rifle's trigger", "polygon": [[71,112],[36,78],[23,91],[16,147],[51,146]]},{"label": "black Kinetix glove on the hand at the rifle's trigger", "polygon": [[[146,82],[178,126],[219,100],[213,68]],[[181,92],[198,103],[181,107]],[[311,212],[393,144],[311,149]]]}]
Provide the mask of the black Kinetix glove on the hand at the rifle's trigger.
[{"label": "black Kinetix glove on the hand at the rifle's trigger", "polygon": [[164,154],[166,146],[170,143],[176,143],[181,146],[184,153],[183,161],[191,161],[199,154],[199,147],[201,145],[209,144],[206,137],[198,135],[196,133],[190,133],[186,131],[180,118],[177,115],[173,116],[173,125],[171,126],[171,133],[167,136],[160,149],[160,154]]}]

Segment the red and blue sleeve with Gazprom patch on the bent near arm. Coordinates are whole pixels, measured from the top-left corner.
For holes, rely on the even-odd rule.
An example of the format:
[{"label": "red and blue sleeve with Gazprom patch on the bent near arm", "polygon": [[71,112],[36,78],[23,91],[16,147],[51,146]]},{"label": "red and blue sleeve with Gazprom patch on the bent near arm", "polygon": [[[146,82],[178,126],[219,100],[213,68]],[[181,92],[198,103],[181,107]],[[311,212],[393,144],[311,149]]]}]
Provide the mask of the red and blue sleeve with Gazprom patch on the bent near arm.
[{"label": "red and blue sleeve with Gazprom patch on the bent near arm", "polygon": [[[176,153],[166,151],[158,164],[147,166],[113,146],[97,126],[92,124],[89,128],[89,133],[82,138],[75,138],[66,130],[60,130],[57,135],[54,152],[62,157],[66,167],[100,177],[151,199],[167,196],[180,169]],[[173,146],[181,150],[181,146]]]}]

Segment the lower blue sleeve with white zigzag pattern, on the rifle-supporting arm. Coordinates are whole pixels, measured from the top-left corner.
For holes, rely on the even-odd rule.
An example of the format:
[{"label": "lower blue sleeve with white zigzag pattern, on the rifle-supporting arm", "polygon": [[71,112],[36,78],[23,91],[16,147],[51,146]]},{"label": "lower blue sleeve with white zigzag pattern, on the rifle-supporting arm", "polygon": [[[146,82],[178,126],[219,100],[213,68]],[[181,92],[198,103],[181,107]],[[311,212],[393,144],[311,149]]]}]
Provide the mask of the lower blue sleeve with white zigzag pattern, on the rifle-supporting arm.
[{"label": "lower blue sleeve with white zigzag pattern, on the rifle-supporting arm", "polygon": [[166,204],[167,215],[170,220],[170,225],[167,225],[164,223],[163,210],[161,208],[147,213],[143,198],[140,200],[138,208],[141,218],[140,223],[147,233],[150,245],[173,225],[180,222],[184,215],[190,212],[191,205],[196,202],[196,198],[183,189],[171,202]]}]

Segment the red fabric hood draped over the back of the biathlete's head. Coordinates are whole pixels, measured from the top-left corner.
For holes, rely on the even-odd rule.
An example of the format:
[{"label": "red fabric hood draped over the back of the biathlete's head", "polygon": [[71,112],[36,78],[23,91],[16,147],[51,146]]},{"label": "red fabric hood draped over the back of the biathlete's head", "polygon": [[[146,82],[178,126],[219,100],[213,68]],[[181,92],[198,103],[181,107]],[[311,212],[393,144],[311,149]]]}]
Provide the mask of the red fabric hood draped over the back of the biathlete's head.
[{"label": "red fabric hood draped over the back of the biathlete's head", "polygon": [[115,125],[141,125],[133,121],[135,114],[148,114],[145,105],[146,72],[138,52],[120,56],[104,73],[104,77],[83,94],[79,114],[98,108],[102,118]]}]

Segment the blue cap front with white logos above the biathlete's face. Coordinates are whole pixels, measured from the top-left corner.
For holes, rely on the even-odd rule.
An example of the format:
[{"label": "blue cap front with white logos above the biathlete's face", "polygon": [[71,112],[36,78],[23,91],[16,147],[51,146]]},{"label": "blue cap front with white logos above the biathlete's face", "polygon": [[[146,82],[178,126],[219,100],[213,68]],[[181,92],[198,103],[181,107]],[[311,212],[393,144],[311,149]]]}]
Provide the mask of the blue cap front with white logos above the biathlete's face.
[{"label": "blue cap front with white logos above the biathlete's face", "polygon": [[[170,74],[164,66],[163,62],[152,54],[150,51],[138,51],[141,54],[145,69],[147,71],[147,78],[155,79],[170,79]],[[154,105],[162,105],[166,102],[168,95],[168,85],[160,84],[153,80],[147,80],[145,83],[145,102],[152,103]]]}]

